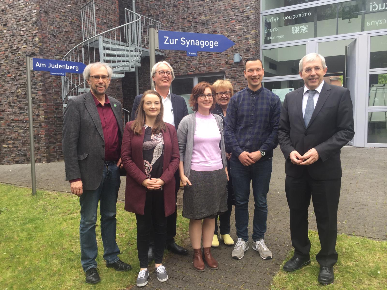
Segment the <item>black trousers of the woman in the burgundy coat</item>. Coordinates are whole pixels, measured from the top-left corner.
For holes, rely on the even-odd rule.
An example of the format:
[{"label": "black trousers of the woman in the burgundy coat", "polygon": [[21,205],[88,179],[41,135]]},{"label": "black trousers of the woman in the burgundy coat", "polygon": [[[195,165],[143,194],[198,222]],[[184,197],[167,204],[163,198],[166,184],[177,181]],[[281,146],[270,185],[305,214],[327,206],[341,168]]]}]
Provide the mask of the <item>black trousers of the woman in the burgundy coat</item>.
[{"label": "black trousers of the woman in the burgundy coat", "polygon": [[164,212],[164,193],[146,193],[144,215],[136,213],[137,251],[140,268],[148,267],[148,249],[151,230],[154,237],[154,262],[161,264],[166,240],[166,222]]}]

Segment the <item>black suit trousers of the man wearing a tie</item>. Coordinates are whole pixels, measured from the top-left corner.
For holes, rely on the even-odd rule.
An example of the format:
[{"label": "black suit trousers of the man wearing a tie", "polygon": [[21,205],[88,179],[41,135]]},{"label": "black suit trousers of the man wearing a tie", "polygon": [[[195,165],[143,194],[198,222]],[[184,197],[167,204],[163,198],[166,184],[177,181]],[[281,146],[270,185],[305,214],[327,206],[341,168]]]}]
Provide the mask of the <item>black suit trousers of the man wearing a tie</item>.
[{"label": "black suit trousers of the man wearing a tie", "polygon": [[307,170],[300,178],[286,176],[285,191],[290,209],[290,235],[294,256],[309,258],[308,207],[312,196],[321,250],[316,256],[321,266],[332,267],[337,262],[337,207],[341,178],[316,180]]}]

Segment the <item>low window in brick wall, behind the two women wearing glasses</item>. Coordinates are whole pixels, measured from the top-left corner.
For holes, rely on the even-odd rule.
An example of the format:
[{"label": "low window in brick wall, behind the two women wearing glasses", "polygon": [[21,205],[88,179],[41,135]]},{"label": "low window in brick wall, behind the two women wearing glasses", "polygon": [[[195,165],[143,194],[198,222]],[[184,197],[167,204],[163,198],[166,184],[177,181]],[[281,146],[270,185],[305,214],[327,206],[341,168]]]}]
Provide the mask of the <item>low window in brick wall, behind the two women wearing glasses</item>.
[{"label": "low window in brick wall, behind the two women wearing glasses", "polygon": [[176,77],[171,85],[171,92],[173,94],[182,96],[185,99],[188,107],[188,114],[194,113],[189,103],[192,89],[200,82],[214,83],[216,80],[224,79],[224,75],[200,75],[192,77]]}]

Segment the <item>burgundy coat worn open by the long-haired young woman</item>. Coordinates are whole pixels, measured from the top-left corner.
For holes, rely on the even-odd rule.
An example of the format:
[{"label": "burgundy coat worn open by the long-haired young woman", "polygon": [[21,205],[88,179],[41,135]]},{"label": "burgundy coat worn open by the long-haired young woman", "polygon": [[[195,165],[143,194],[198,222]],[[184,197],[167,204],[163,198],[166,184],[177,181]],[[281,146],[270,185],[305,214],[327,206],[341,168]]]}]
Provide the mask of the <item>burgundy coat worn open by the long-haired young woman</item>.
[{"label": "burgundy coat worn open by the long-haired young woman", "polygon": [[[146,187],[142,182],[147,178],[145,175],[144,158],[142,156],[142,143],[144,142],[144,131],[142,135],[136,135],[132,131],[130,121],[125,125],[122,138],[121,160],[127,172],[125,186],[125,210],[140,215],[144,214]],[[179,167],[180,155],[177,143],[175,127],[165,123],[167,130],[163,131],[164,138],[164,160],[163,174],[161,179],[165,181],[164,189],[164,212],[165,216],[175,212],[175,172]],[[154,194],[160,194],[155,192]]]}]

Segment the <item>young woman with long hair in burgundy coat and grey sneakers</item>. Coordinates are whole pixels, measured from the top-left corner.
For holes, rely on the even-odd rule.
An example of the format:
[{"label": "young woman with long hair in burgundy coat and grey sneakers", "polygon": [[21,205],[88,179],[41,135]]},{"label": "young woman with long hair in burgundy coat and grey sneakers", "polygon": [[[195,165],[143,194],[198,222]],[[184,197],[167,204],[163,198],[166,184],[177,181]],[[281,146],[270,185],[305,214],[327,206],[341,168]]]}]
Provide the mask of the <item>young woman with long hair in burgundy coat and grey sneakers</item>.
[{"label": "young woman with long hair in burgundy coat and grey sneakers", "polygon": [[137,118],[125,126],[121,158],[127,172],[125,210],[137,220],[140,272],[137,286],[148,281],[150,227],[154,228],[155,271],[159,281],[168,280],[163,261],[166,217],[175,212],[175,177],[179,148],[175,127],[163,122],[163,102],[158,92],[147,90],[137,108]]}]

